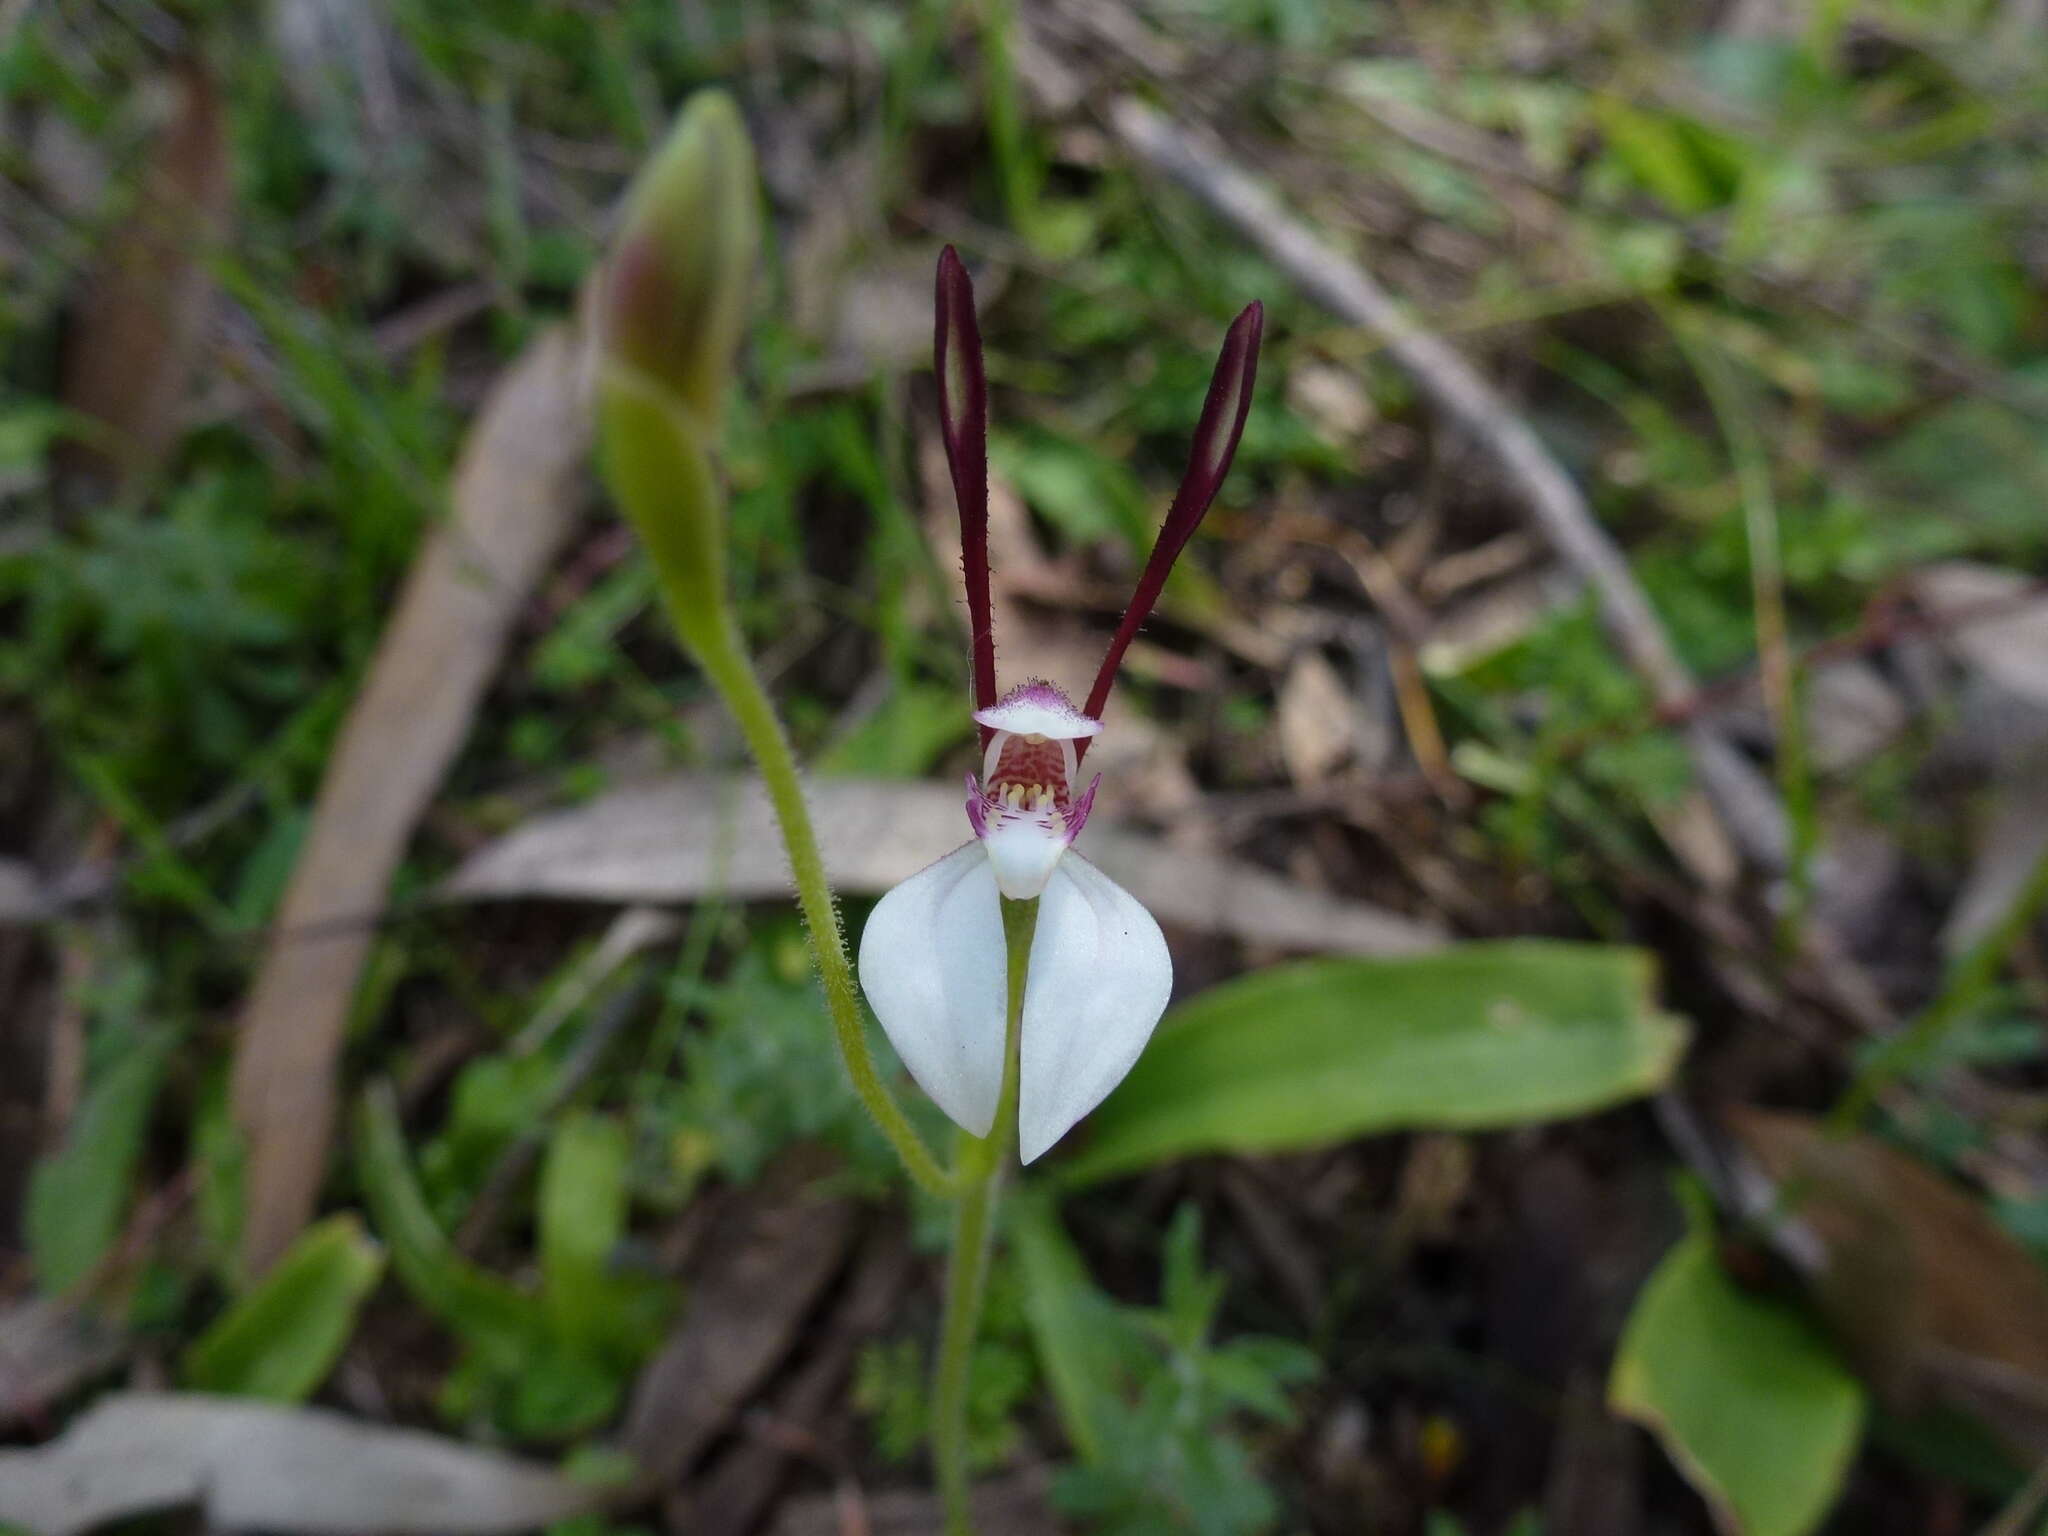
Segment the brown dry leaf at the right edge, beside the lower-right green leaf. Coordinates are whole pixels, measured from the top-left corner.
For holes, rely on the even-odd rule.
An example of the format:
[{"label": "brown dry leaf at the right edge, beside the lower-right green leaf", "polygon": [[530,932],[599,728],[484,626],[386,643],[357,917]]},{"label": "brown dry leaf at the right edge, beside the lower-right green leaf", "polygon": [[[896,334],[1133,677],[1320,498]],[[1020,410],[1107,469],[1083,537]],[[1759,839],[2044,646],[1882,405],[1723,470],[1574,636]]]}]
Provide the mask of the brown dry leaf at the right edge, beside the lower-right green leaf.
[{"label": "brown dry leaf at the right edge, beside the lower-right green leaf", "polygon": [[2048,1452],[2042,1266],[1976,1200],[1876,1137],[1755,1108],[1729,1122],[1810,1239],[1790,1249],[1872,1382],[1901,1405],[1966,1405]]}]

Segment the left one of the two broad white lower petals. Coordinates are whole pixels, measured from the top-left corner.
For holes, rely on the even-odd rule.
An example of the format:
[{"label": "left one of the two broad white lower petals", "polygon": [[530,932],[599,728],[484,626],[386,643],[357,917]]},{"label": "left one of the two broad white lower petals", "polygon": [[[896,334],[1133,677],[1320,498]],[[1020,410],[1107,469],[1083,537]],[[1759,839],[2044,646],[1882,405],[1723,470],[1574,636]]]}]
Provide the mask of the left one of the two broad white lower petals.
[{"label": "left one of the two broad white lower petals", "polygon": [[1004,1087],[1008,954],[979,840],[874,903],[860,934],[860,989],[918,1087],[969,1135],[989,1135]]}]

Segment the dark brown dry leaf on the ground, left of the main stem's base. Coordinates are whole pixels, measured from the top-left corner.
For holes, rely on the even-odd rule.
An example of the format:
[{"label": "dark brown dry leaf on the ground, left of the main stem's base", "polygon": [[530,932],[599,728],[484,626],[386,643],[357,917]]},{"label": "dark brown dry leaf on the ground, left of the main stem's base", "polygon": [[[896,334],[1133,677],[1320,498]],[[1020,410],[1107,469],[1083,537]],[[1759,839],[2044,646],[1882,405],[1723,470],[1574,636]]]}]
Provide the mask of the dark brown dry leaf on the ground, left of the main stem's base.
[{"label": "dark brown dry leaf on the ground, left of the main stem's base", "polygon": [[825,1194],[831,1157],[797,1147],[711,1233],[682,1323],[633,1389],[625,1446],[672,1483],[768,1380],[854,1239],[854,1202]]}]

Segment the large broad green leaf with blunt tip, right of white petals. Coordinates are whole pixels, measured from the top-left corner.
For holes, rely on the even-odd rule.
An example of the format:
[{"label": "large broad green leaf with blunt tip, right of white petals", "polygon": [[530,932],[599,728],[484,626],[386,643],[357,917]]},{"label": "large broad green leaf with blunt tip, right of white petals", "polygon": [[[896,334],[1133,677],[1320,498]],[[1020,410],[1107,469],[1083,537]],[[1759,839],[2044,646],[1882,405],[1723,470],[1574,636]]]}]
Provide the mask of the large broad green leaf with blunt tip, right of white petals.
[{"label": "large broad green leaf with blunt tip, right of white petals", "polygon": [[1260,971],[1165,1016],[1063,1178],[1483,1130],[1655,1094],[1686,1024],[1657,1012],[1651,979],[1640,950],[1544,942]]}]

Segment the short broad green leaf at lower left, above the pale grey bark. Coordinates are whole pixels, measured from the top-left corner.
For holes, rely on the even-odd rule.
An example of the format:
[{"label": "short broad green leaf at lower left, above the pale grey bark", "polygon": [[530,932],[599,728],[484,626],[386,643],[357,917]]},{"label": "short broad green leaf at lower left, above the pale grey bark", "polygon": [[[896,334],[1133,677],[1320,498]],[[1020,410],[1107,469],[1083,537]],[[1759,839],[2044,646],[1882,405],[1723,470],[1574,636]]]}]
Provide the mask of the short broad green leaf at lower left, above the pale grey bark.
[{"label": "short broad green leaf at lower left, above the pale grey bark", "polygon": [[184,1352],[184,1384],[274,1403],[305,1401],[340,1360],[379,1278],[383,1249],[362,1221],[354,1212],[328,1217]]}]

